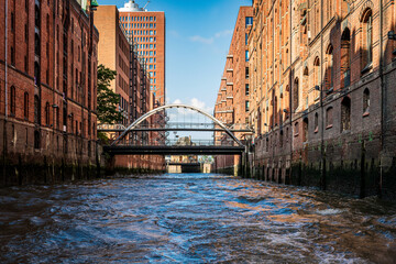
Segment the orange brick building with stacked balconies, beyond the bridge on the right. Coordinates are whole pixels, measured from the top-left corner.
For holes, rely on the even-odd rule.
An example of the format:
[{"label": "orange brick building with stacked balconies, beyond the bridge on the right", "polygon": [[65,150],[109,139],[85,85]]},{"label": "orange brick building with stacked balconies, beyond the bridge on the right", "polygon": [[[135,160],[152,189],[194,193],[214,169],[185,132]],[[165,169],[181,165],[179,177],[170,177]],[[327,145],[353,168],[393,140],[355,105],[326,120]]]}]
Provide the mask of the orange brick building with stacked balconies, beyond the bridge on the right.
[{"label": "orange brick building with stacked balconies, beyond the bridge on the right", "polygon": [[[215,117],[226,124],[248,124],[249,117],[249,61],[246,59],[248,34],[253,22],[253,8],[241,7],[235,22],[229,54],[215,105]],[[242,139],[242,134],[237,134]],[[216,140],[222,140],[222,133],[216,132]],[[219,170],[234,170],[239,156],[217,156]],[[221,169],[220,169],[221,168]]]}]

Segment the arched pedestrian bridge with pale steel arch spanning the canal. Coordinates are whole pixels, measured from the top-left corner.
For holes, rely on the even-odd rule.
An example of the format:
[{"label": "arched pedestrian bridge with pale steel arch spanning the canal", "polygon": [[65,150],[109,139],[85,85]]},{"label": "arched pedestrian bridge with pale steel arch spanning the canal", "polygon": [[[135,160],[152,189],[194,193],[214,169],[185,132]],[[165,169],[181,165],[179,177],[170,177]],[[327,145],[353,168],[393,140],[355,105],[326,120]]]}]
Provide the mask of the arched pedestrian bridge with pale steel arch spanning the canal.
[{"label": "arched pedestrian bridge with pale steel arch spanning the canal", "polygon": [[253,130],[245,124],[227,125],[201,109],[174,103],[151,110],[129,127],[99,124],[98,132],[110,136],[103,147],[110,155],[238,155],[245,151],[239,139]]}]

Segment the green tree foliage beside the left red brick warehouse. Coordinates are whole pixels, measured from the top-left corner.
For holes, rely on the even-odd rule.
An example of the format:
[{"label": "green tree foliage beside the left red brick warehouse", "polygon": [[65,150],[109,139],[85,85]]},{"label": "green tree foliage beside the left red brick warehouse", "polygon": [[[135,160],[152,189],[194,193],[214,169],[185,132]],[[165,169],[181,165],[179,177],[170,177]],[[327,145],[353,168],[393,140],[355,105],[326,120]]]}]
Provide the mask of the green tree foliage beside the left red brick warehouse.
[{"label": "green tree foliage beside the left red brick warehouse", "polygon": [[116,79],[116,70],[111,70],[102,64],[98,66],[97,114],[100,123],[112,124],[122,120],[122,112],[118,110],[120,95],[109,88],[110,81]]}]

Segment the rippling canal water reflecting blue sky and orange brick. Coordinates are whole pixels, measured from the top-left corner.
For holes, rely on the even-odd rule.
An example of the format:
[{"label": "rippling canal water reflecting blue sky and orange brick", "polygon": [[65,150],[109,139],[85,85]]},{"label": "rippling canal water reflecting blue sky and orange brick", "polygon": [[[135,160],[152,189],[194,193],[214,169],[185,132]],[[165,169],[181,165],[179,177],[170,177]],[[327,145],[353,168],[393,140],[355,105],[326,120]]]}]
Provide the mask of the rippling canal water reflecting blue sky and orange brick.
[{"label": "rippling canal water reflecting blue sky and orange brick", "polygon": [[396,205],[215,174],[3,188],[0,263],[396,263]]}]

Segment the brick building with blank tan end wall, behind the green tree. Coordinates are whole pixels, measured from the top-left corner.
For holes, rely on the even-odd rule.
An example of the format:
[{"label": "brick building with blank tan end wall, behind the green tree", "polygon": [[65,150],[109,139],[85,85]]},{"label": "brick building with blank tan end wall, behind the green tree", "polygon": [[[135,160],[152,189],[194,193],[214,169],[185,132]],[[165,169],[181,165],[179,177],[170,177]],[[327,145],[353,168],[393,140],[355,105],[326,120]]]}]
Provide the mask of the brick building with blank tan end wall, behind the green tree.
[{"label": "brick building with blank tan end wall, behind the green tree", "polygon": [[[153,109],[154,96],[150,90],[150,77],[146,65],[140,58],[133,37],[120,22],[116,6],[100,6],[95,13],[99,30],[98,61],[117,72],[117,78],[110,88],[121,96],[119,109],[122,110],[122,124],[128,127],[144,113]],[[118,134],[117,134],[118,135]],[[117,136],[116,133],[112,136]],[[145,142],[153,133],[130,134],[134,142]],[[162,156],[116,156],[114,166],[125,168],[162,169],[165,164]]]}]

